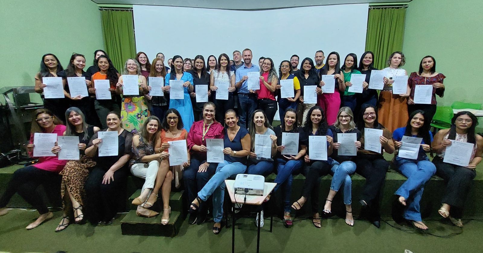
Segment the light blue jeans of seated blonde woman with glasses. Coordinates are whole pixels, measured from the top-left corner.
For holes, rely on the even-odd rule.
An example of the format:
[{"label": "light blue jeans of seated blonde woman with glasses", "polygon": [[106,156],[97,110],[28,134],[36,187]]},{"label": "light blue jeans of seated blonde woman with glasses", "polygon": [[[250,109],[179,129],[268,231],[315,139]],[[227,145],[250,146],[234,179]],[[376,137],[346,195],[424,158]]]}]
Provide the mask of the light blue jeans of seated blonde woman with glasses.
[{"label": "light blue jeans of seated blonde woman with glasses", "polygon": [[355,163],[345,161],[339,164],[339,162],[333,160],[331,170],[332,183],[330,183],[330,189],[338,192],[344,185],[344,204],[352,204],[352,180],[350,175],[355,172]]}]

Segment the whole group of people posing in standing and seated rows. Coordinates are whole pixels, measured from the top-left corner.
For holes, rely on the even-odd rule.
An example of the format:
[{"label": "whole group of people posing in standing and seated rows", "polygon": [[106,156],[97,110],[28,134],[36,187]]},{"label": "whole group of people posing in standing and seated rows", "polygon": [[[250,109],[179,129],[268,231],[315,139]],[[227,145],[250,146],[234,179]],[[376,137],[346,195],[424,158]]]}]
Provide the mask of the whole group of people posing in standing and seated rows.
[{"label": "whole group of people posing in standing and seated rows", "polygon": [[[169,197],[172,184],[184,184],[189,200],[186,207],[188,222],[202,224],[207,220],[207,203],[213,201],[213,233],[221,231],[224,180],[240,173],[268,176],[277,174],[274,193],[282,196],[284,203],[284,224],[292,225],[292,210],[300,210],[310,198],[313,212],[313,225],[321,227],[321,218],[332,212],[332,200],[342,190],[347,225],[354,225],[352,215],[351,175],[358,173],[366,178],[359,198],[363,207],[362,215],[376,227],[380,226],[379,200],[389,162],[384,152],[395,154],[392,168],[408,179],[396,191],[396,218],[408,220],[414,227],[427,230],[420,214],[420,200],[425,183],[434,174],[443,178],[446,189],[441,200],[439,213],[462,226],[462,210],[475,168],[483,155],[483,138],[475,134],[478,124],[471,112],[459,112],[452,119],[449,129],[440,130],[433,138],[429,124],[435,113],[435,95],[442,97],[444,75],[436,72],[436,62],[432,56],[421,60],[418,72],[408,79],[405,94],[393,94],[393,76],[406,75],[404,55],[394,52],[388,58],[388,68],[384,69],[384,89],[378,93],[368,89],[370,71],[373,68],[374,54],[365,52],[356,66],[357,56],[349,54],[340,67],[337,52],[331,52],[324,62],[322,51],[315,54],[315,65],[309,57],[304,58],[298,69],[299,58],[294,55],[284,60],[278,73],[270,58],[262,57],[259,66],[252,64],[252,51],[233,52],[233,64],[227,54],[217,59],[203,56],[183,59],[173,56],[164,65],[164,55],[159,53],[149,62],[146,54],[140,52],[136,58],[126,61],[123,74],[138,75],[139,96],[122,96],[123,76],[120,75],[105,52],[95,52],[94,65],[84,71],[85,58],[74,54],[69,67],[63,70],[53,54],[43,56],[40,72],[35,77],[36,91],[42,93],[46,86],[43,77],[62,77],[65,85],[65,98],[45,98],[44,109],[34,113],[28,152],[35,148],[35,133],[55,133],[58,136],[79,137],[79,160],[59,160],[57,156],[39,157],[39,162],[18,169],[0,198],[0,216],[8,212],[6,208],[14,193],[20,194],[40,213],[39,218],[27,226],[32,229],[53,217],[46,204],[35,191],[43,184],[45,189],[61,193],[64,215],[56,228],[62,231],[72,223],[82,223],[88,219],[93,224],[111,224],[118,210],[118,197],[126,191],[129,171],[142,178],[145,183],[139,197],[132,204],[138,206],[141,216],[158,215],[151,210],[161,194],[163,203],[162,224],[169,223]],[[260,72],[260,89],[248,88],[248,72]],[[348,92],[353,73],[366,73],[363,93]],[[322,75],[334,75],[333,83],[325,83]],[[66,77],[85,76],[89,93],[94,94],[95,80],[109,80],[112,99],[97,100],[93,97],[69,95]],[[169,99],[169,96],[149,96],[151,86],[147,77],[164,77],[162,91],[170,92],[170,80],[182,80],[184,99]],[[293,79],[294,98],[279,98],[280,81]],[[326,79],[327,80],[327,79]],[[216,99],[218,82],[229,83],[228,100]],[[209,102],[196,102],[197,85],[209,85]],[[431,104],[414,104],[414,86],[433,85]],[[316,85],[317,104],[305,104],[301,87]],[[324,93],[322,86],[334,85],[334,93]],[[238,98],[238,99],[235,99]],[[236,102],[237,100],[238,102]],[[238,106],[235,106],[238,104]],[[66,106],[70,106],[65,109]],[[272,127],[274,115],[280,112],[280,126]],[[356,116],[354,115],[356,112]],[[97,114],[97,117],[95,116]],[[66,125],[63,125],[63,122]],[[101,130],[102,128],[102,130]],[[379,129],[382,150],[374,152],[365,149],[365,129]],[[102,138],[99,131],[117,131],[118,154],[100,156],[99,145]],[[282,155],[284,133],[298,134],[298,154]],[[341,142],[338,134],[354,133],[357,155],[339,155]],[[268,135],[271,140],[270,158],[255,153],[256,135]],[[310,136],[327,137],[327,160],[311,159]],[[416,159],[398,156],[403,136],[422,138]],[[224,140],[224,162],[207,162],[207,139]],[[169,141],[186,140],[188,159],[182,165],[170,166]],[[452,140],[473,143],[473,152],[467,167],[456,166],[443,161],[445,150]],[[52,153],[58,154],[61,147],[56,143]],[[428,153],[436,157],[429,160]],[[293,175],[302,173],[306,180],[301,197],[290,200]],[[332,175],[332,183],[322,212],[319,209],[320,178]],[[174,183],[172,183],[174,182]],[[60,187],[59,187],[60,186]],[[159,191],[161,191],[159,193]],[[212,198],[210,198],[212,197]],[[270,196],[267,200],[270,199]],[[86,217],[84,218],[84,211]],[[263,225],[263,212],[260,217]],[[258,224],[258,222],[257,222]]]}]

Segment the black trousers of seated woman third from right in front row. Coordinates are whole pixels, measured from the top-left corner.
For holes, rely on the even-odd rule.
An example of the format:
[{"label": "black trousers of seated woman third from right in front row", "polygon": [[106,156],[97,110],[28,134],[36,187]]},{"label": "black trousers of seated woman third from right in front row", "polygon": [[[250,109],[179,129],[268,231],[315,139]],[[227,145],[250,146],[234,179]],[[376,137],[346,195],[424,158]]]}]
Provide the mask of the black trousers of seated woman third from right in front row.
[{"label": "black trousers of seated woman third from right in front row", "polygon": [[379,220],[381,189],[383,188],[389,163],[382,155],[358,155],[355,160],[355,172],[364,178],[366,183],[362,188],[361,200],[368,204],[368,213]]}]

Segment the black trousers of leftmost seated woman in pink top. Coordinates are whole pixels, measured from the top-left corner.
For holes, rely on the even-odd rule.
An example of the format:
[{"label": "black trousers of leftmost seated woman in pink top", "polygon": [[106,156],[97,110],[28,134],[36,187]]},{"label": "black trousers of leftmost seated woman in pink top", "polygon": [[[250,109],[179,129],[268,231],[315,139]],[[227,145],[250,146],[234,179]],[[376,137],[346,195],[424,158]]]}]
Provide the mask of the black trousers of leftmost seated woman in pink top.
[{"label": "black trousers of leftmost seated woman in pink top", "polygon": [[6,207],[12,196],[18,193],[40,214],[47,213],[49,210],[42,195],[36,191],[37,187],[42,184],[45,191],[48,192],[48,196],[57,194],[60,198],[61,179],[62,176],[58,172],[38,169],[33,165],[17,169],[7,185],[5,193],[0,198],[0,208]]}]

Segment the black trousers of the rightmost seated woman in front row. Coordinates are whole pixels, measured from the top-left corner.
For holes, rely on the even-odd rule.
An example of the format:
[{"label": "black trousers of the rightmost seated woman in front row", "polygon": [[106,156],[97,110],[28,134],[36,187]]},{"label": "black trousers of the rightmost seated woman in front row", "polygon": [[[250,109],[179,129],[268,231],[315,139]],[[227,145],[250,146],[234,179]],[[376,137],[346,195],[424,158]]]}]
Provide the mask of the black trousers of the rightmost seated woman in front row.
[{"label": "black trousers of the rightmost seated woman in front row", "polygon": [[450,215],[456,219],[461,219],[469,187],[476,176],[476,171],[445,163],[443,158],[439,156],[434,157],[433,163],[436,166],[436,175],[446,183],[441,203],[450,205]]}]

